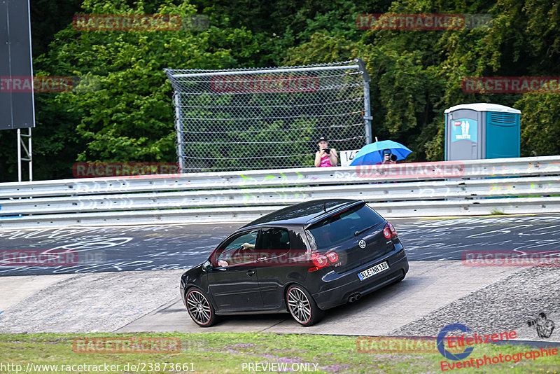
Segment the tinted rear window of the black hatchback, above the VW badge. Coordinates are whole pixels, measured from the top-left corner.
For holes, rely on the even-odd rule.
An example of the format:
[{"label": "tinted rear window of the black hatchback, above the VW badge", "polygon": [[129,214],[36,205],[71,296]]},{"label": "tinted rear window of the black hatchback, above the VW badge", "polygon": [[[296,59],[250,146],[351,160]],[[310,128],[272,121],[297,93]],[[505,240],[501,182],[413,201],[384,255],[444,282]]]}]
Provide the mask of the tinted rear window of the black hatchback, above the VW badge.
[{"label": "tinted rear window of the black hatchback, above the VW badge", "polygon": [[356,231],[384,223],[384,219],[367,205],[358,205],[330,216],[308,228],[307,236],[316,249],[326,249],[355,237]]}]

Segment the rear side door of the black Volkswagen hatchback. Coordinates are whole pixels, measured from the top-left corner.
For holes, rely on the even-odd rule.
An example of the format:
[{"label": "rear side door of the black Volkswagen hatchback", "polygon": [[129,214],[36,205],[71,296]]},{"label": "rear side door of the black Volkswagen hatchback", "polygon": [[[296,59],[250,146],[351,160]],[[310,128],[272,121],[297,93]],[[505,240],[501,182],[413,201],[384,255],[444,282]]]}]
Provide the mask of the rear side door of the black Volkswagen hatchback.
[{"label": "rear side door of the black Volkswagen hatchback", "polygon": [[289,228],[262,228],[256,246],[256,270],[265,309],[277,309],[286,282],[304,282],[309,264],[300,234]]}]

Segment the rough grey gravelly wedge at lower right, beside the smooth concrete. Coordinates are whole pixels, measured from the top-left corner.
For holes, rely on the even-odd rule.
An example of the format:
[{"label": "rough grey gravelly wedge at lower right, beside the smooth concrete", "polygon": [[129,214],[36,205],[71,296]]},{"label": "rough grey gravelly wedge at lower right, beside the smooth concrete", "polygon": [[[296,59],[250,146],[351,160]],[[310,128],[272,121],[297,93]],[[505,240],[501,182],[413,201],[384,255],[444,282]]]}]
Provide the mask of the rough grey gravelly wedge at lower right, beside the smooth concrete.
[{"label": "rough grey gravelly wedge at lower right, beside the smooth concrete", "polygon": [[[539,338],[527,321],[544,312],[555,328]],[[473,333],[516,331],[517,340],[560,342],[560,268],[524,268],[391,331],[400,336],[437,336],[448,324],[463,324]]]}]

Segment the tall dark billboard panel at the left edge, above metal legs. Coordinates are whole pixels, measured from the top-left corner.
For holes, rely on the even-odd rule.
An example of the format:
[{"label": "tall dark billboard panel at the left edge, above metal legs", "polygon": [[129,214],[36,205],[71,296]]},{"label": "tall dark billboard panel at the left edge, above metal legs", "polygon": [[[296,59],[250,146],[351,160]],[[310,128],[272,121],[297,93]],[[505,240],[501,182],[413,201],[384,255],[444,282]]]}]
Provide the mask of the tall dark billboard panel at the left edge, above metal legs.
[{"label": "tall dark billboard panel at the left edge, above metal legs", "polygon": [[0,0],[0,130],[35,127],[29,0]]}]

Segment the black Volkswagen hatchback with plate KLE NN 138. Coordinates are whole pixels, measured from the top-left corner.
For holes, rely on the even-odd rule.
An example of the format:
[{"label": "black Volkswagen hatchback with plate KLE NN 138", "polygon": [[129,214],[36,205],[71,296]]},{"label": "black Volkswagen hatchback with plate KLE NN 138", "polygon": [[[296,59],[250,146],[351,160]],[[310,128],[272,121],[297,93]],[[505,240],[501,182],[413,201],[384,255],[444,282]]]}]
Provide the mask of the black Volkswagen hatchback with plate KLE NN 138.
[{"label": "black Volkswagen hatchback with plate KLE NN 138", "polygon": [[311,326],[324,311],[404,279],[395,228],[359,200],[313,200],[280,209],[225,238],[181,276],[199,326],[231,314],[289,312]]}]

